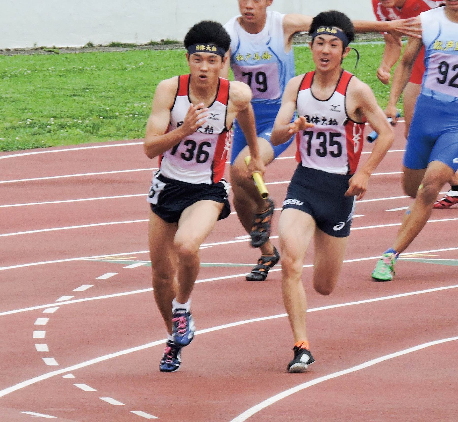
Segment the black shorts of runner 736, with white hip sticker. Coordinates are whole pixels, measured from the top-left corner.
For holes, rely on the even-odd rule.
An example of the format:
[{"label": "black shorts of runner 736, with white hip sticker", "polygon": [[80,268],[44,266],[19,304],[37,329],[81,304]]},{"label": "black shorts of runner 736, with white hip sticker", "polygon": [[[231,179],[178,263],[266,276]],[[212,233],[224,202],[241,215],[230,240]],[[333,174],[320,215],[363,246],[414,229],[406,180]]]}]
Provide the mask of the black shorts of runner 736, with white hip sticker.
[{"label": "black shorts of runner 736, with white hip sticker", "polygon": [[163,175],[154,175],[147,201],[151,210],[167,223],[178,223],[183,211],[197,201],[208,199],[223,203],[218,220],[230,214],[228,201],[229,184],[221,179],[218,183],[187,183],[169,179]]}]

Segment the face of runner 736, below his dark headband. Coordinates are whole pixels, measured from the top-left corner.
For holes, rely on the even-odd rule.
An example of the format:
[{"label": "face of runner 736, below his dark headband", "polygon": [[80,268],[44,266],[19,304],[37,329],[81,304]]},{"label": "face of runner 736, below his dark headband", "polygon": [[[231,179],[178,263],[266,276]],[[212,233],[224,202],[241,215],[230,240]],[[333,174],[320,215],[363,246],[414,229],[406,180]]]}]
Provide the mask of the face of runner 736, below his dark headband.
[{"label": "face of runner 736, below his dark headband", "polygon": [[224,60],[213,53],[186,54],[192,81],[202,87],[216,86]]}]

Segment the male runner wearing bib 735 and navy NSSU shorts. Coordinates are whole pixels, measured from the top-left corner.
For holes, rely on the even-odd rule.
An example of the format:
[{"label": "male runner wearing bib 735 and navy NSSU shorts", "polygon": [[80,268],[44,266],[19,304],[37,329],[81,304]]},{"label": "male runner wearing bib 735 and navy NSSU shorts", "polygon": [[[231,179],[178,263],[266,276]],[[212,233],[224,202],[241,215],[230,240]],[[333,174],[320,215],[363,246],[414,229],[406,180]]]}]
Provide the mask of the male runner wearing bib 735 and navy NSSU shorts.
[{"label": "male runner wearing bib 735 and navy NSSU shorts", "polygon": [[[342,69],[354,38],[349,18],[338,11],[322,12],[313,19],[310,33],[316,70],[288,82],[271,137],[279,145],[297,134],[299,165],[278,223],[283,300],[295,342],[289,372],[303,372],[314,362],[301,280],[307,247],[313,238],[313,286],[329,295],[344,261],[355,201],[365,195],[369,177],[394,137],[371,88]],[[295,110],[300,117],[289,123]],[[366,120],[379,137],[357,171]]]}]

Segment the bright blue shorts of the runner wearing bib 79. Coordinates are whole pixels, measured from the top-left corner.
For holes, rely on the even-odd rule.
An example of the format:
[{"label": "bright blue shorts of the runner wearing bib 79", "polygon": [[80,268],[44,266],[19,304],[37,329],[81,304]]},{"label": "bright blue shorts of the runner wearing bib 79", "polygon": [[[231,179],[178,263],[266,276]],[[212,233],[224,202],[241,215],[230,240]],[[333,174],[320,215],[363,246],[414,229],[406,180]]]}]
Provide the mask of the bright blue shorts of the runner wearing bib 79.
[{"label": "bright blue shorts of the runner wearing bib 79", "polygon": [[[251,103],[256,117],[256,134],[260,138],[266,139],[270,142],[270,136],[272,134],[273,122],[275,117],[277,117],[278,110],[280,110],[280,104],[262,104],[262,103]],[[291,121],[294,121],[297,116],[294,115]],[[273,158],[277,158],[283,151],[289,147],[289,144],[293,141],[294,136],[289,139],[289,141],[277,145],[273,148]],[[234,138],[232,139],[232,150],[231,150],[231,162],[234,164],[237,155],[240,151],[245,148],[248,144],[246,143],[245,135],[240,129],[237,121],[234,123]]]}]

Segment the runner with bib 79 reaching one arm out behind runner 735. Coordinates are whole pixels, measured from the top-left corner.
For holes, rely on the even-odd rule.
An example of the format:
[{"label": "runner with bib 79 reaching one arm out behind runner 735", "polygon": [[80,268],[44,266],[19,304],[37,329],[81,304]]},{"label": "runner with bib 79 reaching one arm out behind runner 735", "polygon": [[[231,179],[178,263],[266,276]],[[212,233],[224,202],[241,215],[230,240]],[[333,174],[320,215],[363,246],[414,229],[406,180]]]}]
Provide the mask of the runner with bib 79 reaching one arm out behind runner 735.
[{"label": "runner with bib 79 reaching one arm out behind runner 735", "polygon": [[[247,83],[252,90],[251,104],[256,115],[257,142],[264,164],[278,157],[291,140],[274,147],[270,142],[273,121],[280,108],[287,82],[295,76],[293,35],[308,31],[312,16],[267,11],[272,0],[239,0],[240,16],[234,16],[224,27],[231,36],[228,55],[235,80]],[[354,21],[357,32],[387,31],[418,34],[411,21]],[[229,60],[220,76],[227,78]],[[251,246],[259,247],[262,256],[246,280],[262,281],[279,260],[277,249],[269,241],[273,202],[262,199],[251,180],[246,178],[247,143],[240,127],[234,125],[231,153],[231,183],[234,207],[241,224],[251,235]]]}]

